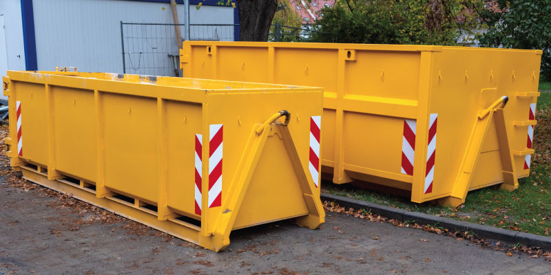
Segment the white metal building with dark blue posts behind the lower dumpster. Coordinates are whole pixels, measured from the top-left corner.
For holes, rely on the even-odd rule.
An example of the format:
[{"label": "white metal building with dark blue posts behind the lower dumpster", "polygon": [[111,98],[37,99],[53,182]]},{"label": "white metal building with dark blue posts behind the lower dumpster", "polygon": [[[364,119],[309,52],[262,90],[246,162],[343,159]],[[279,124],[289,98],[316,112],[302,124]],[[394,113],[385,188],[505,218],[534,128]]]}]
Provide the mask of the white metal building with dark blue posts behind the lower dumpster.
[{"label": "white metal building with dark blue posts behind the lower dumpster", "polygon": [[[176,3],[179,22],[184,23],[183,0]],[[218,0],[190,4],[191,39],[238,39],[237,8],[218,5]],[[156,25],[123,26],[121,21]],[[1,0],[0,76],[8,69],[48,71],[56,66],[123,73],[122,52],[134,66],[127,74],[154,73],[146,66],[170,72],[168,55],[178,55],[178,43],[174,26],[161,24],[171,23],[169,0]],[[183,26],[180,32],[183,38]]]}]

